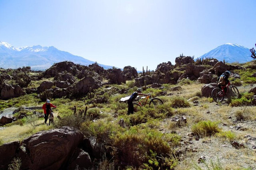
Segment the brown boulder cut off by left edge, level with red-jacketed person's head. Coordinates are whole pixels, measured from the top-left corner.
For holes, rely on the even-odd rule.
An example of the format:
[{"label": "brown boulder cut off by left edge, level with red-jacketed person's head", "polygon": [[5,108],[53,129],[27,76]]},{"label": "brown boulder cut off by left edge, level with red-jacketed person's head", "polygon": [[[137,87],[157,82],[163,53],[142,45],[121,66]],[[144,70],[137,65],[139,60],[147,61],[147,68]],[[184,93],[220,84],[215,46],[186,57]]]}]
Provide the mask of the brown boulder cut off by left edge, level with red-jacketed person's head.
[{"label": "brown boulder cut off by left edge, level with red-jacketed person's head", "polygon": [[26,95],[26,92],[22,90],[22,88],[18,85],[11,84],[2,84],[0,87],[1,90],[1,99],[10,99],[13,97],[19,97]]}]

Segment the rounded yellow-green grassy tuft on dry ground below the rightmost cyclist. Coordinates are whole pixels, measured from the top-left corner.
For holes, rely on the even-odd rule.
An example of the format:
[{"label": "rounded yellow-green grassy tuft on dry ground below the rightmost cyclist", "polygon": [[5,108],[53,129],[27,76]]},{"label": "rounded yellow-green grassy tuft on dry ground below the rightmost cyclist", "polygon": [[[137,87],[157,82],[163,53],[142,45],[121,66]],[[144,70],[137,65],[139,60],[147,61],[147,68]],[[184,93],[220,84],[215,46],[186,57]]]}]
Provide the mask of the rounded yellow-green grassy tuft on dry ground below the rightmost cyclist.
[{"label": "rounded yellow-green grassy tuft on dry ground below the rightmost cyclist", "polygon": [[218,123],[211,121],[198,122],[192,126],[191,130],[197,137],[209,137],[215,133],[220,132]]}]

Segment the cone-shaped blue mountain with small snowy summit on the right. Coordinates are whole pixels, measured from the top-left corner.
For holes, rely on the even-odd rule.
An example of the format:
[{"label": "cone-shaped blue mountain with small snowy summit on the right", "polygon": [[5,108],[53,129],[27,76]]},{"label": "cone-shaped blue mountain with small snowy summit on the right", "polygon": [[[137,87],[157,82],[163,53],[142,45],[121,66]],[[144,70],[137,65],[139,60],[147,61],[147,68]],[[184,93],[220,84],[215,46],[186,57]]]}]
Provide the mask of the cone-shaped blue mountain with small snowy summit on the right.
[{"label": "cone-shaped blue mountain with small snowy summit on the right", "polygon": [[246,63],[253,60],[249,48],[231,43],[221,45],[198,58],[206,57],[216,58],[218,61],[225,60],[226,63]]}]

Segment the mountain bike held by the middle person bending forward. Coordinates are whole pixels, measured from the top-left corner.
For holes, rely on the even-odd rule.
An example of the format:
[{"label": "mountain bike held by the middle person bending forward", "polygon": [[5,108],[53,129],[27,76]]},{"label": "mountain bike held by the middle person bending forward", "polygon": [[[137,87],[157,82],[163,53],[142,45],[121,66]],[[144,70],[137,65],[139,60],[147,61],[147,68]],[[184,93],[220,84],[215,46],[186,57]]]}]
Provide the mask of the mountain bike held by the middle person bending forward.
[{"label": "mountain bike held by the middle person bending forward", "polygon": [[138,97],[132,104],[134,112],[138,112],[142,107],[146,106],[146,104],[149,104],[149,106],[157,106],[162,105],[163,101],[159,98],[151,98],[151,94],[149,93],[147,96]]}]

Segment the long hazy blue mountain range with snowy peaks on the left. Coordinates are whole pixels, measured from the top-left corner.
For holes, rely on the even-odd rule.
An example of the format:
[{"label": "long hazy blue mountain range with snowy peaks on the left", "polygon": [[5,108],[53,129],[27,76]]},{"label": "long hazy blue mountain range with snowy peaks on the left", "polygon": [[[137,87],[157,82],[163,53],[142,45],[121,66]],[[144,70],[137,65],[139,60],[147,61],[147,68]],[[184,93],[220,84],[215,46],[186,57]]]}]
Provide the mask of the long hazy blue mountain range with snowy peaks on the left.
[{"label": "long hazy blue mountain range with snowy peaks on the left", "polygon": [[[83,57],[61,51],[53,46],[42,47],[40,45],[33,47],[15,48],[12,45],[0,41],[0,67],[3,69],[17,69],[22,66],[30,66],[33,70],[45,70],[54,63],[71,61],[75,64],[90,65],[95,62],[86,60]],[[113,66],[102,65],[104,69],[110,69]]]}]

